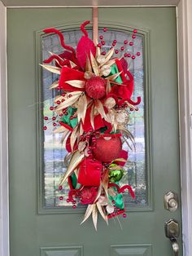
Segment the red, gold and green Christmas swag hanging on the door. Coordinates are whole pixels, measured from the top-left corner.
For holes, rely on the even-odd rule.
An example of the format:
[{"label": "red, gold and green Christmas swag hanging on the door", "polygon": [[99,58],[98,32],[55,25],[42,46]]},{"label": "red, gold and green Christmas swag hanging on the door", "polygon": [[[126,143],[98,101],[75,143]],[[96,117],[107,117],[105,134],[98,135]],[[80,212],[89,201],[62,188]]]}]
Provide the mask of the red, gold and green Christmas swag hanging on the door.
[{"label": "red, gold and green Christmas swag hanging on the door", "polygon": [[[97,229],[98,213],[107,222],[124,213],[122,193],[127,189],[134,198],[129,185],[120,188],[124,176],[124,164],[128,152],[122,149],[133,135],[127,130],[129,109],[135,109],[137,102],[133,94],[133,75],[127,70],[127,61],[113,57],[114,47],[105,55],[100,44],[95,45],[84,35],[76,46],[68,46],[63,34],[57,29],[45,29],[45,33],[56,33],[64,51],[60,55],[51,54],[41,66],[59,74],[59,80],[50,89],[59,89],[55,97],[56,107],[52,107],[59,123],[55,133],[63,133],[62,143],[68,151],[59,189],[68,181],[68,202],[87,205],[82,223],[92,215]],[[55,66],[49,65],[55,61]],[[46,128],[44,127],[46,130]],[[62,196],[61,196],[62,197]]]}]

